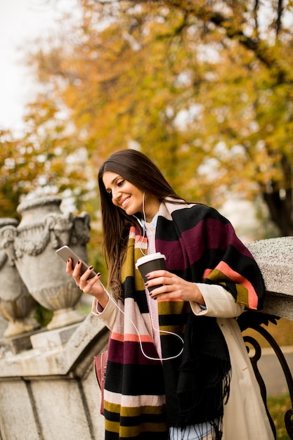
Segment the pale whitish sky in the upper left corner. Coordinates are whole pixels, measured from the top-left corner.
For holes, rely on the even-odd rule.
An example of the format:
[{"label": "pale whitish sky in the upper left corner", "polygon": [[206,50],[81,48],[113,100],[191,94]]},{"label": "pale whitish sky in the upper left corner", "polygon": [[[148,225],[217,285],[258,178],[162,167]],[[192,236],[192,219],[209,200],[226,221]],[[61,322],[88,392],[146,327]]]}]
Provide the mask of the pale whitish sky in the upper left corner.
[{"label": "pale whitish sky in the upper left corner", "polygon": [[49,32],[74,0],[0,0],[0,129],[21,129],[24,104],[34,91],[21,48]]}]

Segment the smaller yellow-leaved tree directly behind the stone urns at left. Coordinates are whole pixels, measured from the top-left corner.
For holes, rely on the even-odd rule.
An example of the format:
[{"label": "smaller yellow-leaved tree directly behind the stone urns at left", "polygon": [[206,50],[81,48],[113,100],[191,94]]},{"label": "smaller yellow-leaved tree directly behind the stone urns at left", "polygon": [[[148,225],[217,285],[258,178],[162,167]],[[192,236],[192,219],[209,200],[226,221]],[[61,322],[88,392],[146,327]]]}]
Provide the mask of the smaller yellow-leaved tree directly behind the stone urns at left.
[{"label": "smaller yellow-leaved tree directly behind the stone urns at left", "polygon": [[62,119],[55,119],[56,108],[39,98],[37,112],[33,105],[30,112],[22,138],[0,131],[1,216],[18,218],[16,209],[30,193],[74,197],[80,209],[92,187],[86,150],[81,145],[76,148],[71,136],[67,137]]}]

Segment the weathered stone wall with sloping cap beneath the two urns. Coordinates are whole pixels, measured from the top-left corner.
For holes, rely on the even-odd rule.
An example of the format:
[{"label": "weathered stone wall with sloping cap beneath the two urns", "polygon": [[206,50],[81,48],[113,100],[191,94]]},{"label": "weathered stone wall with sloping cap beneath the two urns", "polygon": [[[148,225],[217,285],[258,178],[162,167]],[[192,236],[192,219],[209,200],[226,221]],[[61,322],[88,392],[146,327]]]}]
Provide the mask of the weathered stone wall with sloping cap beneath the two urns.
[{"label": "weathered stone wall with sloping cap beneath the two urns", "polygon": [[[1,440],[101,440],[103,416],[93,356],[108,330],[89,315],[82,323],[1,344]],[[15,353],[15,351],[20,352]]]}]

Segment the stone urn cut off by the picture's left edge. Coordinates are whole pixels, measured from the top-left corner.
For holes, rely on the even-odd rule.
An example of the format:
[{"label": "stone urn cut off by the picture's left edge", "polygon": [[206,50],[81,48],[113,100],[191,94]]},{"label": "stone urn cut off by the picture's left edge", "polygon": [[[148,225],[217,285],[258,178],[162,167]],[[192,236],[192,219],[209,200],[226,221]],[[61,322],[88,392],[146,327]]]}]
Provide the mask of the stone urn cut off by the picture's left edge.
[{"label": "stone urn cut off by the picture's left edge", "polygon": [[17,225],[16,219],[0,219],[0,313],[8,321],[5,337],[39,328],[34,319],[37,302],[15,267],[13,242]]}]

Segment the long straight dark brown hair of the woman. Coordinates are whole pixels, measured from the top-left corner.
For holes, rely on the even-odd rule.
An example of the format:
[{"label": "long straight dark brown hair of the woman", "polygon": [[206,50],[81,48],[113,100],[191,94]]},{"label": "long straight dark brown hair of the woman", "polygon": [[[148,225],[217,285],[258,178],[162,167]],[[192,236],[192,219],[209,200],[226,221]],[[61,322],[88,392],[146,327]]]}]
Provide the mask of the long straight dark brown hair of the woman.
[{"label": "long straight dark brown hair of the woman", "polygon": [[[136,188],[155,195],[159,201],[167,197],[181,200],[171,188],[157,166],[143,153],[137,150],[119,150],[113,153],[102,164],[98,172],[98,186],[100,190],[100,204],[103,226],[103,251],[108,263],[108,287],[112,288],[114,297],[122,298],[120,273],[122,262],[126,254],[126,246],[131,224],[137,224],[134,216],[126,214],[124,209],[116,207],[112,198],[105,189],[103,174],[113,172],[132,183]],[[139,225],[138,225],[139,226]]]}]

